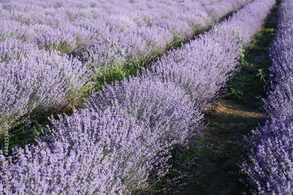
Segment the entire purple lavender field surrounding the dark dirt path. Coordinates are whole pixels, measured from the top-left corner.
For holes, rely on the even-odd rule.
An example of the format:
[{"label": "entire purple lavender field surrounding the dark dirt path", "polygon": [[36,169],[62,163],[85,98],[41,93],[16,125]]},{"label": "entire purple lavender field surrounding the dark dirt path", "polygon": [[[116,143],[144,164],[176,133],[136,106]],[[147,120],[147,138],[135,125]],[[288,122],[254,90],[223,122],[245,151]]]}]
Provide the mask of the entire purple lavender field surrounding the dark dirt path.
[{"label": "entire purple lavender field surrounding the dark dirt path", "polygon": [[292,0],[0,1],[0,194],[206,187],[194,177],[216,148],[207,110],[241,99],[247,49],[273,8],[259,70],[270,118],[241,132],[246,188],[233,193],[293,194]]}]

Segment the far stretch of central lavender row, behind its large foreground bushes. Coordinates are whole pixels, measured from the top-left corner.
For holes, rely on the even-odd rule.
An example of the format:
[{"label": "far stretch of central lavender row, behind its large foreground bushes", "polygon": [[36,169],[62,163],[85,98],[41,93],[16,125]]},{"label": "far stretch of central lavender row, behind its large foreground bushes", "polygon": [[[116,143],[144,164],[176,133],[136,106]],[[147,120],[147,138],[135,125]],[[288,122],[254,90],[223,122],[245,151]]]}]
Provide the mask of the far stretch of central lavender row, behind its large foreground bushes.
[{"label": "far stretch of central lavender row, behind its large foreground bushes", "polygon": [[236,71],[243,48],[260,30],[274,3],[254,1],[244,6],[196,40],[168,52],[143,74],[175,82],[196,105],[204,105],[217,96]]}]

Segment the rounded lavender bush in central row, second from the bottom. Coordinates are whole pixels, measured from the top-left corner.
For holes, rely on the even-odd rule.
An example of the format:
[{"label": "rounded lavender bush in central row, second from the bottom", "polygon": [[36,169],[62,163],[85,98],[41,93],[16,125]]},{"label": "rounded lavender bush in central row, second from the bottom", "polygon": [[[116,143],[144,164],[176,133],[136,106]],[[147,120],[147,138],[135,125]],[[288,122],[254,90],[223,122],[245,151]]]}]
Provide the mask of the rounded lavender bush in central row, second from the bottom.
[{"label": "rounded lavender bush in central row, second from the bottom", "polygon": [[192,108],[189,96],[173,83],[161,84],[159,79],[128,79],[122,80],[120,86],[118,82],[105,84],[99,92],[101,95],[92,96],[87,107],[92,110],[119,109],[136,117],[145,128],[151,127],[158,135],[166,136],[164,139],[170,144],[172,141],[182,143],[190,128],[197,126],[201,118],[200,110]]}]

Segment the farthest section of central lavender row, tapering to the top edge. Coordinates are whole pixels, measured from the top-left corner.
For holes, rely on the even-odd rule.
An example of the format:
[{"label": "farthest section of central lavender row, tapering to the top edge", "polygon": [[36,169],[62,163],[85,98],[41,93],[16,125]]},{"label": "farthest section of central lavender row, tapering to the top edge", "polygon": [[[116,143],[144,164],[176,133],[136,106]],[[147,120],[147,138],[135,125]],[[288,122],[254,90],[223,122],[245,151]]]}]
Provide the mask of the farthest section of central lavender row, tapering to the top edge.
[{"label": "farthest section of central lavender row, tapering to the top edge", "polygon": [[235,55],[233,57],[239,59],[243,48],[260,30],[274,4],[273,0],[253,1],[232,17],[214,25],[207,34],[224,47],[227,55]]}]

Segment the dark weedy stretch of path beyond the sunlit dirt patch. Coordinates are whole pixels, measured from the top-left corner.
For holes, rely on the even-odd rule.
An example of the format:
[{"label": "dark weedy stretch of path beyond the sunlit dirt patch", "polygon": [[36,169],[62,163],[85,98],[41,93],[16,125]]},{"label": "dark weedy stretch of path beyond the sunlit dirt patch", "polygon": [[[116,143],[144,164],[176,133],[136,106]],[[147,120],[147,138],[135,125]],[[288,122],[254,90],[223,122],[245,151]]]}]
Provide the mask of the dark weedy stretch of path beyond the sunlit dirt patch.
[{"label": "dark weedy stretch of path beyond the sunlit dirt patch", "polygon": [[[266,80],[265,75],[265,70],[268,66],[267,51],[275,36],[275,31],[276,23],[268,20],[265,22],[263,29],[257,33],[255,40],[250,43],[250,47],[242,50],[240,63],[245,68],[242,68],[228,81],[228,88],[224,96],[236,96],[239,99],[243,99],[242,102],[245,104],[245,95],[260,95],[257,90],[251,89],[263,87],[263,81],[265,81],[265,87],[269,88],[271,77]],[[241,40],[241,37],[239,39]]]}]

